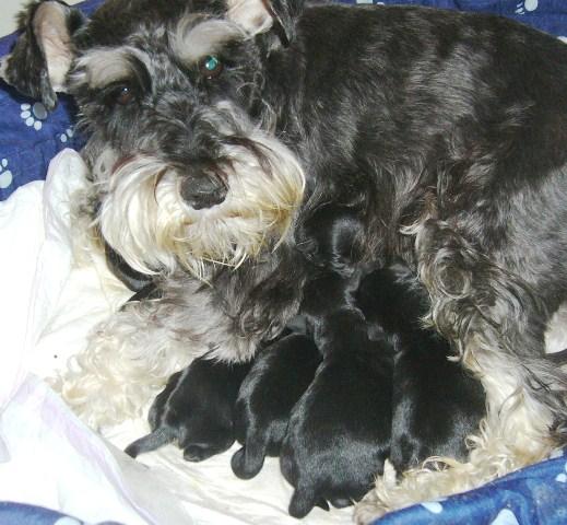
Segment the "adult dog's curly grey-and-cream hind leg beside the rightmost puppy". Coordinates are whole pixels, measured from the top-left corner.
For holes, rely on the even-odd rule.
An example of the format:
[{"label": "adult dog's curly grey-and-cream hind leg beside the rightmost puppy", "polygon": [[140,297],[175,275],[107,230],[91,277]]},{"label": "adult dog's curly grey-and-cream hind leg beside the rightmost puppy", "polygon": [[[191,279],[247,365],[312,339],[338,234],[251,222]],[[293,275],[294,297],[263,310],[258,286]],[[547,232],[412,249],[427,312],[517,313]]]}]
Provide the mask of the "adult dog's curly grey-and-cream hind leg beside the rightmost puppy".
[{"label": "adult dog's curly grey-and-cream hind leg beside the rightmost puppy", "polygon": [[[415,469],[397,485],[378,479],[358,523],[393,509],[475,488],[542,460],[565,442],[566,374],[544,357],[544,308],[520,278],[491,262],[442,221],[417,229],[420,277],[430,322],[457,345],[486,390],[487,417],[471,436],[469,462]],[[439,463],[437,463],[439,465]]]}]

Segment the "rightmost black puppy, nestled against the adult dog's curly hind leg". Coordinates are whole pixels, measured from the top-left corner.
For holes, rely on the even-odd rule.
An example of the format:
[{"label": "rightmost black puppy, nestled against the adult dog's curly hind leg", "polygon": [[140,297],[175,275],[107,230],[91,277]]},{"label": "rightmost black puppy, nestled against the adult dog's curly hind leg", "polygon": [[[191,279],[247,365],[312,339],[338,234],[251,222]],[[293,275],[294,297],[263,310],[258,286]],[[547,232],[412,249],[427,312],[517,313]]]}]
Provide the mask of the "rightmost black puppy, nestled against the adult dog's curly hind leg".
[{"label": "rightmost black puppy, nestled against the adult dog's curly hind leg", "polygon": [[427,295],[407,267],[393,264],[361,281],[356,300],[370,331],[392,334],[393,419],[390,459],[401,472],[429,456],[466,457],[466,435],[479,430],[485,394],[449,343],[421,324]]}]

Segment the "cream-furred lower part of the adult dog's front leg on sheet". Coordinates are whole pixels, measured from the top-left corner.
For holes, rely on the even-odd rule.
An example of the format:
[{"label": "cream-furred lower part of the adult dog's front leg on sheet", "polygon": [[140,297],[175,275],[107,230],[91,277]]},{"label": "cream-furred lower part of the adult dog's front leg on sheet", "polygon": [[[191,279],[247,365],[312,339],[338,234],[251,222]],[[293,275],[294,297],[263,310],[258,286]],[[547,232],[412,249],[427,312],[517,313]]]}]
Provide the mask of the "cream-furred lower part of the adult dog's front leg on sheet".
[{"label": "cream-furred lower part of the adult dog's front leg on sheet", "polygon": [[160,301],[127,303],[95,328],[54,387],[95,429],[140,417],[168,376],[194,355],[158,322],[175,314]]}]

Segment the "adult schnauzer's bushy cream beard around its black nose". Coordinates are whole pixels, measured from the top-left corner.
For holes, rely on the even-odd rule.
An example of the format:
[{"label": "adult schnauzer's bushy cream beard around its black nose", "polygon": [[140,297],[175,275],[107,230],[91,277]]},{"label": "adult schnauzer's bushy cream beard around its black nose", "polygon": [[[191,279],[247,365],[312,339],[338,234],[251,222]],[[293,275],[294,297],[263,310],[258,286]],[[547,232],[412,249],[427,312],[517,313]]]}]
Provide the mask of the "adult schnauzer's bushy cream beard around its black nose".
[{"label": "adult schnauzer's bushy cream beard around its black nose", "polygon": [[237,267],[275,248],[302,202],[304,172],[276,139],[258,130],[248,139],[253,151],[223,147],[226,198],[200,210],[184,201],[182,175],[166,163],[137,156],[109,173],[101,159],[103,237],[138,271],[173,272],[180,265],[200,279],[211,262]]}]

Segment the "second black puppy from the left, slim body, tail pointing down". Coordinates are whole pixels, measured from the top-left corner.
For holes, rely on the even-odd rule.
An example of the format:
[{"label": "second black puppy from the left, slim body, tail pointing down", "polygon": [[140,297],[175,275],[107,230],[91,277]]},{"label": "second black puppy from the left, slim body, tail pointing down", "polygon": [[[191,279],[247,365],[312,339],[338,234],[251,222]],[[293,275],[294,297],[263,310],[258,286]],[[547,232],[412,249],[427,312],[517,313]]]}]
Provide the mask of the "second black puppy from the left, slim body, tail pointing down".
[{"label": "second black puppy from the left, slim body, tail pointing down", "polygon": [[312,339],[303,334],[288,334],[259,353],[236,401],[235,435],[244,445],[231,463],[236,476],[252,478],[267,455],[280,454],[292,408],[320,362]]}]

